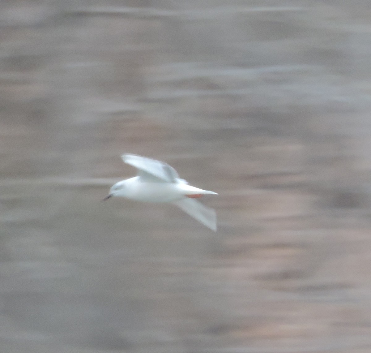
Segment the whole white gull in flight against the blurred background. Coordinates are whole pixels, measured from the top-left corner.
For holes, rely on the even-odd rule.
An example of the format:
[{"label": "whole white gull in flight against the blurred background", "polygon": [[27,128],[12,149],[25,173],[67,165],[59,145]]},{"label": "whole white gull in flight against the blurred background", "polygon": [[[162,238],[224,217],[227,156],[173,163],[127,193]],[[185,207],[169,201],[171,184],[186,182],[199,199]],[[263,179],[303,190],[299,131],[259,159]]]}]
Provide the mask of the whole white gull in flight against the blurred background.
[{"label": "whole white gull in flight against the blurred background", "polygon": [[188,185],[164,162],[136,154],[123,154],[121,158],[137,168],[137,176],[114,184],[103,201],[120,196],[136,201],[172,203],[216,232],[215,210],[195,200],[203,195],[218,195],[216,192]]}]

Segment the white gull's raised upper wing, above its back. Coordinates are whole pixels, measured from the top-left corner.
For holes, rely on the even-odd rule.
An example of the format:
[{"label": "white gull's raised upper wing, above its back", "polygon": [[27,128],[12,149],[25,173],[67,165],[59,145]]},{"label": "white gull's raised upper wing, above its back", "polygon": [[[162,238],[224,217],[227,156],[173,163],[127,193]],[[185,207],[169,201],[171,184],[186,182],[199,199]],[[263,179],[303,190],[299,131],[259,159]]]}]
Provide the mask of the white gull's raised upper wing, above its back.
[{"label": "white gull's raised upper wing, above its back", "polygon": [[123,154],[122,160],[138,169],[138,175],[143,179],[157,182],[175,183],[179,177],[177,171],[164,162],[138,156],[136,154]]}]

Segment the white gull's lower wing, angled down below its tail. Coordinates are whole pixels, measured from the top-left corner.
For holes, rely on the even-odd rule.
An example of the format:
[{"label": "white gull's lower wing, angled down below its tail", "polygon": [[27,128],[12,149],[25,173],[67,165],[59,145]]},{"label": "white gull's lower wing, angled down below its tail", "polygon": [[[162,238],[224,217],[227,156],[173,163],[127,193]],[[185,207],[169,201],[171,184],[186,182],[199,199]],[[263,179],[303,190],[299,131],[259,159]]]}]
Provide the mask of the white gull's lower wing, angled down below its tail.
[{"label": "white gull's lower wing, angled down below its tail", "polygon": [[207,207],[194,199],[175,201],[173,204],[177,205],[184,212],[188,213],[188,215],[216,232],[216,213],[214,209]]}]

